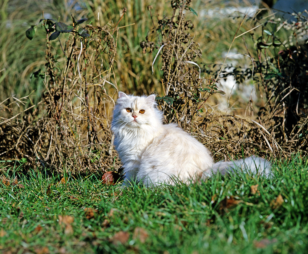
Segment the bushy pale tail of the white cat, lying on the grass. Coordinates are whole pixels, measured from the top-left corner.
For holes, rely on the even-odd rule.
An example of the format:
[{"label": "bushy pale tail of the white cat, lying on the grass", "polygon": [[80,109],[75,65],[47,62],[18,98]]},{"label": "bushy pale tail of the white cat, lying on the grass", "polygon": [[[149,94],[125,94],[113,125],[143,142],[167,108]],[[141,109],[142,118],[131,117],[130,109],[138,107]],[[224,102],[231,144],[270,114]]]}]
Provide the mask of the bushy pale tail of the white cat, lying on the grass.
[{"label": "bushy pale tail of the white cat, lying on the grass", "polygon": [[211,177],[213,174],[220,172],[221,174],[233,174],[235,172],[243,172],[250,175],[261,175],[266,178],[272,177],[272,166],[269,161],[251,156],[237,161],[220,161],[213,164],[212,172],[203,172],[203,179]]}]

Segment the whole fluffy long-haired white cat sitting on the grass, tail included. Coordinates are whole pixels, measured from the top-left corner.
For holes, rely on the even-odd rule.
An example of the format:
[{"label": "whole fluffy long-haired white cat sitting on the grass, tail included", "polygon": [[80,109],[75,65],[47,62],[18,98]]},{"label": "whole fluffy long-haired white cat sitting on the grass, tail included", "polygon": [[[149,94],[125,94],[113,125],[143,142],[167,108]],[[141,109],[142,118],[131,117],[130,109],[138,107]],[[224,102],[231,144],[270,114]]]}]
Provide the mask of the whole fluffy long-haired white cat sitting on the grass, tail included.
[{"label": "whole fluffy long-haired white cat sitting on the grass, tail included", "polygon": [[132,96],[119,92],[113,109],[111,131],[123,164],[123,186],[142,182],[145,186],[196,182],[213,174],[245,173],[271,176],[271,164],[259,157],[214,163],[209,150],[177,127],[163,124],[155,95]]}]

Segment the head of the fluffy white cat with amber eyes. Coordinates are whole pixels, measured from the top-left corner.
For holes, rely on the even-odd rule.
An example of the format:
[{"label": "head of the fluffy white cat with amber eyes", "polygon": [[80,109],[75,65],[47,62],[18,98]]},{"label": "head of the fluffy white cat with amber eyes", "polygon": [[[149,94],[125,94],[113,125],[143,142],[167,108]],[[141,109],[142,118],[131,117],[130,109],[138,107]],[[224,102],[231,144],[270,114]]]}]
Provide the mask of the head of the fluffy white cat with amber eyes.
[{"label": "head of the fluffy white cat with amber eyes", "polygon": [[118,127],[144,128],[162,122],[162,113],[157,109],[155,95],[132,96],[119,92],[119,97],[113,110],[111,128]]}]

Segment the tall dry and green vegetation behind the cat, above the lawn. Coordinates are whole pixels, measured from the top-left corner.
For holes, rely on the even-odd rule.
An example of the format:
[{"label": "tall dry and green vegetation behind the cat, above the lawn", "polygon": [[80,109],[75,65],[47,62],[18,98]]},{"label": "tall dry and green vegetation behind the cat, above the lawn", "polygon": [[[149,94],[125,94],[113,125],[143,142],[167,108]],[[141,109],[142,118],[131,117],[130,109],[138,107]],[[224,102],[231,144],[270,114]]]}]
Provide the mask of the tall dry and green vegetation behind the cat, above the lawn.
[{"label": "tall dry and green vegetation behind the cat, above the lawn", "polygon": [[[166,121],[215,160],[306,154],[305,16],[288,25],[269,9],[220,1],[4,1],[1,10],[4,167],[117,170],[110,119],[119,90],[156,92]],[[49,40],[56,21],[90,37]]]}]

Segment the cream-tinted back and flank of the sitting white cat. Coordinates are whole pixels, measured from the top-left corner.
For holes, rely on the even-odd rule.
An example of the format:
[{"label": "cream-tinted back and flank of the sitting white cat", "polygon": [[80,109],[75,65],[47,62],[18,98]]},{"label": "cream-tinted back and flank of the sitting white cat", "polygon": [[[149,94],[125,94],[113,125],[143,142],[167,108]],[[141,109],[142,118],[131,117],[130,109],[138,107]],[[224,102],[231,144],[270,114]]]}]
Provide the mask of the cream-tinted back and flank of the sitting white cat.
[{"label": "cream-tinted back and flank of the sitting white cat", "polygon": [[140,162],[140,180],[149,178],[152,183],[170,183],[172,176],[186,182],[213,165],[209,150],[173,123],[163,126]]}]

